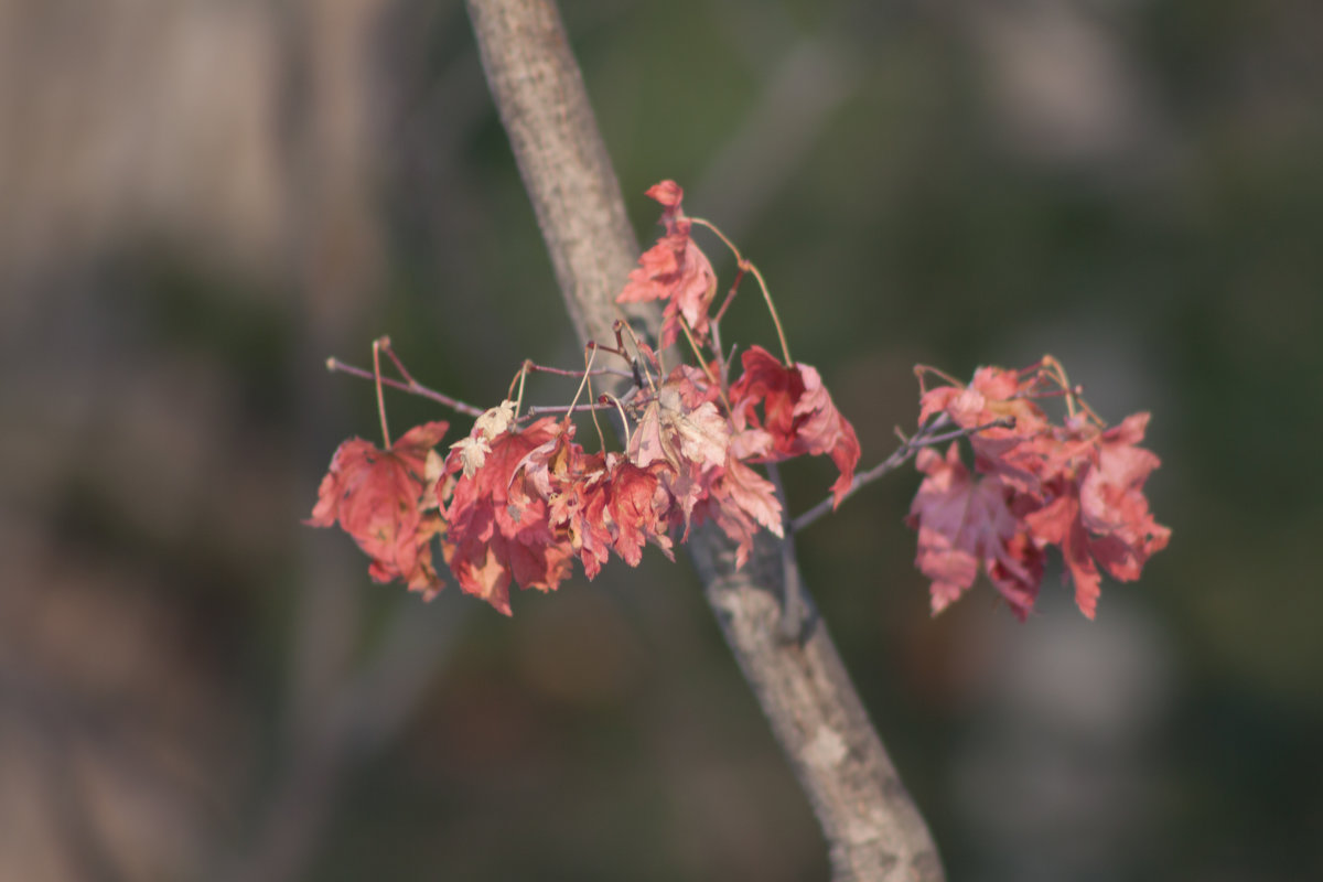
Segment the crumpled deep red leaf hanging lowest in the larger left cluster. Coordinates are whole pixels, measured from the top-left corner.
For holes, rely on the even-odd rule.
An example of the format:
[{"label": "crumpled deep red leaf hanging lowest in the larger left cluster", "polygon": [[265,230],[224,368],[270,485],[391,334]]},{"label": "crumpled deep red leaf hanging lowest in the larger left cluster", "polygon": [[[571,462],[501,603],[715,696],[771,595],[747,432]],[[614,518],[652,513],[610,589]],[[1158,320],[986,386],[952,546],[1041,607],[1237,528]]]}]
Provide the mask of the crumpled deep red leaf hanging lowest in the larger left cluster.
[{"label": "crumpled deep red leaf hanging lowest in the larger left cluster", "polygon": [[511,579],[521,588],[552,591],[569,575],[573,550],[553,532],[546,502],[513,483],[520,461],[560,431],[548,417],[488,438],[483,465],[471,475],[462,473],[460,451],[447,459],[447,469],[460,475],[445,512],[446,562],[464,592],[504,615],[511,615]]}]

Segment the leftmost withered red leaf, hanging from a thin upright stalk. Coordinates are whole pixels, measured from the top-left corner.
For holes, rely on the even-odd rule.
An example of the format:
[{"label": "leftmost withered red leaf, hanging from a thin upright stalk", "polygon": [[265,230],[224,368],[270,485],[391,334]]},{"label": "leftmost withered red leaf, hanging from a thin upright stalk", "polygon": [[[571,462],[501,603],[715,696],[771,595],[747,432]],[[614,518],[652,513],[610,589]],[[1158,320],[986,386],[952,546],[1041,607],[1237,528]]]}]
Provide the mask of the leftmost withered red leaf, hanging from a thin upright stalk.
[{"label": "leftmost withered red leaf, hanging from a thin upright stalk", "polygon": [[427,510],[435,485],[429,459],[447,427],[445,422],[415,426],[389,451],[361,438],[344,442],[304,521],[312,526],[339,522],[372,558],[368,574],[373,581],[401,579],[427,599],[443,587],[433,566],[431,537],[445,529],[442,517]]}]

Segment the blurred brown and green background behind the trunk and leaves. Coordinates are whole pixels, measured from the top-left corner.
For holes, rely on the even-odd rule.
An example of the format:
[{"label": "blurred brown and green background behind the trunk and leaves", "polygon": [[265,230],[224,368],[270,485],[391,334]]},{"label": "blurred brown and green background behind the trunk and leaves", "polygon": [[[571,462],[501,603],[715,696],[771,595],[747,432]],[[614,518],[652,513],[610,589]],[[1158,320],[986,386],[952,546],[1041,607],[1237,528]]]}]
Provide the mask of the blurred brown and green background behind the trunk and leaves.
[{"label": "blurred brown and green background behind the trunk and leaves", "polygon": [[[1154,414],[1174,540],[1094,623],[931,619],[912,469],[802,536],[950,877],[1323,878],[1318,5],[565,15],[640,239],[679,180],[865,464],[916,362]],[[300,526],[380,333],[483,406],[578,361],[462,4],[0,0],[0,878],[826,878],[687,563],[507,620]]]}]

